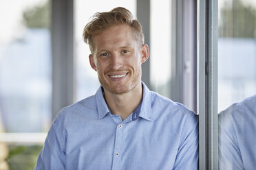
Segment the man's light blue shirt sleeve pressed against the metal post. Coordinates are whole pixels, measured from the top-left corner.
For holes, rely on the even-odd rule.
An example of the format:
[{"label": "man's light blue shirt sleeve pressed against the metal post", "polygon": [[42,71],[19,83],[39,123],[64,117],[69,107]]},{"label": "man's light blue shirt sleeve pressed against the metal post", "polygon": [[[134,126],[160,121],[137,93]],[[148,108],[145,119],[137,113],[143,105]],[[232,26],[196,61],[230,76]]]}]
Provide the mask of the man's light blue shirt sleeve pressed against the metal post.
[{"label": "man's light blue shirt sleeve pressed against the metal post", "polygon": [[194,112],[191,112],[182,127],[173,169],[198,169],[198,116]]}]

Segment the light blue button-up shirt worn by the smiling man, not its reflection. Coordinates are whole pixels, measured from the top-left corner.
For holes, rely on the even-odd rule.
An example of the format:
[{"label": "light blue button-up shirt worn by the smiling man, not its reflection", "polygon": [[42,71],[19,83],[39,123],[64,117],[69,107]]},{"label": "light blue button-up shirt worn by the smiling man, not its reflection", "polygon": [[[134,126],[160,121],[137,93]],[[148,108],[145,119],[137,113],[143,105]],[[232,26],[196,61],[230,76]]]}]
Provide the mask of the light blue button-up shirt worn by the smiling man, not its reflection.
[{"label": "light blue button-up shirt worn by the smiling man, not its reflection", "polygon": [[142,85],[124,121],[109,112],[102,87],[61,110],[35,169],[198,169],[198,117]]}]

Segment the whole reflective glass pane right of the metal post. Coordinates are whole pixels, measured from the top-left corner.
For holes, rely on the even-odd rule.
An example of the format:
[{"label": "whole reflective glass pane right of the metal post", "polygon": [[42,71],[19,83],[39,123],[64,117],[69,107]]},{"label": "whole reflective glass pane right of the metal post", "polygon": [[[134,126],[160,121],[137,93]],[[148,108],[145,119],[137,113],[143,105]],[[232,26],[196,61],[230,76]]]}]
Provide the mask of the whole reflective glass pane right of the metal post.
[{"label": "whole reflective glass pane right of the metal post", "polygon": [[220,169],[256,167],[256,1],[219,0]]}]

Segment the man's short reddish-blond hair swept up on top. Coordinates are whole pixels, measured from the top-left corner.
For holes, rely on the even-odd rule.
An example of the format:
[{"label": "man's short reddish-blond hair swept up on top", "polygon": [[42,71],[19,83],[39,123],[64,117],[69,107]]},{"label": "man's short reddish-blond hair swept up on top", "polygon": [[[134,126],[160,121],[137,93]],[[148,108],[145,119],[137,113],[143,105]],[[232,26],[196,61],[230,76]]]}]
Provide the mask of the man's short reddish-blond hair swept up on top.
[{"label": "man's short reddish-blond hair swept up on top", "polygon": [[92,16],[92,21],[85,25],[83,30],[83,40],[89,44],[91,53],[94,53],[94,36],[103,32],[103,30],[115,26],[126,24],[131,27],[134,32],[134,38],[138,42],[138,45],[144,44],[144,34],[142,32],[142,26],[138,20],[133,19],[133,16],[129,10],[118,7],[109,12],[97,12]]}]

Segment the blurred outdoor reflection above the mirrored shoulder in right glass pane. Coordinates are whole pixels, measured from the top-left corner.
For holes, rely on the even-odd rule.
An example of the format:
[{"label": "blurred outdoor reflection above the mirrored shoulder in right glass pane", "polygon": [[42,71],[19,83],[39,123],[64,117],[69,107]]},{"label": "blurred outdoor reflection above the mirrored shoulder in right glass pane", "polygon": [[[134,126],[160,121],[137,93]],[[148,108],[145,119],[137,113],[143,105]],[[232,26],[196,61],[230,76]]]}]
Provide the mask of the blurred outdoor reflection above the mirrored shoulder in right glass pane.
[{"label": "blurred outdoor reflection above the mirrored shoulder in right glass pane", "polygon": [[219,0],[218,110],[256,93],[256,1]]}]

